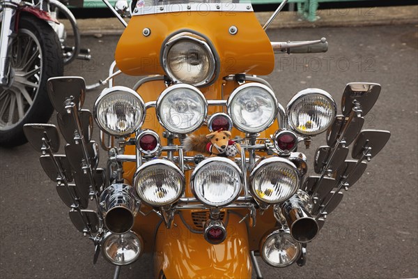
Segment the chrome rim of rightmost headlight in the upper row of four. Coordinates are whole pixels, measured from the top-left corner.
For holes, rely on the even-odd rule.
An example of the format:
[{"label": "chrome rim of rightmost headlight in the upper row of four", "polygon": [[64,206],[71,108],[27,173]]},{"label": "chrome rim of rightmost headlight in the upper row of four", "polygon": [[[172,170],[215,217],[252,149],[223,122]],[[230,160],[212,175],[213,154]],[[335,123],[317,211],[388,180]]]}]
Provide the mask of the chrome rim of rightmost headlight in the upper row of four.
[{"label": "chrome rim of rightmost headlight in the upper row of four", "polygon": [[[320,96],[325,97],[330,102],[330,104],[332,105],[332,112],[334,114],[333,119],[335,119],[335,117],[337,115],[336,102],[335,102],[334,98],[332,98],[331,94],[328,93],[327,91],[325,91],[323,89],[319,89],[319,88],[308,88],[308,89],[304,89],[304,90],[301,90],[301,91],[297,92],[295,94],[295,96],[293,96],[291,98],[291,100],[289,101],[289,103],[286,105],[286,118],[287,118],[287,124],[288,124],[288,126],[295,133],[297,133],[298,135],[304,135],[304,136],[320,135],[321,133],[324,133],[327,130],[327,128],[329,128],[329,126],[328,126],[327,128],[323,129],[319,133],[318,132],[315,132],[315,133],[302,133],[302,132],[300,132],[299,129],[297,129],[297,127],[295,127],[293,125],[293,122],[291,121],[291,117],[290,117],[291,107],[293,105],[295,105],[295,103],[297,103],[297,101],[300,100],[301,98],[304,98],[306,96],[313,96],[313,95],[320,95]],[[334,122],[334,120],[333,121],[330,121],[330,126],[332,125],[333,122]]]}]

